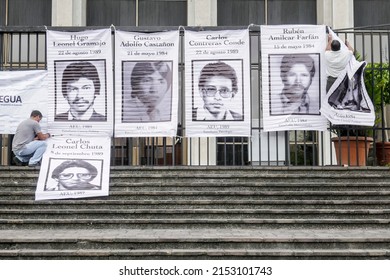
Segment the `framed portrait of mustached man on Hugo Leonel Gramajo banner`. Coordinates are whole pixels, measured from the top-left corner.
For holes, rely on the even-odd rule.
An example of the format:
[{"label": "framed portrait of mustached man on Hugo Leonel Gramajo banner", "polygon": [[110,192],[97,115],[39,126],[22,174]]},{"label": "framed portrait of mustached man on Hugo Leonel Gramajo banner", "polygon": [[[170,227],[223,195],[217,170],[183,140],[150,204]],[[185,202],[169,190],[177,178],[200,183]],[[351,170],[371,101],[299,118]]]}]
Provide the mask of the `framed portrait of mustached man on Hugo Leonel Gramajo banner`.
[{"label": "framed portrait of mustached man on Hugo Leonel Gramajo banner", "polygon": [[104,60],[55,61],[55,121],[107,121]]}]

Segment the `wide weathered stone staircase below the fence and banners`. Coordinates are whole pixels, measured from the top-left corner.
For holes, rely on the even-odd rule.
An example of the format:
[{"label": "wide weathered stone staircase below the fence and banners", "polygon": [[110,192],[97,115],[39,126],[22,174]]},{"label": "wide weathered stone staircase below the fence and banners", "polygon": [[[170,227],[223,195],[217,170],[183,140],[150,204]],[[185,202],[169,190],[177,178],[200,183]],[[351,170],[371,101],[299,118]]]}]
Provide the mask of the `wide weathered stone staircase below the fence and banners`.
[{"label": "wide weathered stone staircase below the fence and banners", "polygon": [[387,167],[112,167],[110,195],[35,201],[0,167],[0,259],[389,259]]}]

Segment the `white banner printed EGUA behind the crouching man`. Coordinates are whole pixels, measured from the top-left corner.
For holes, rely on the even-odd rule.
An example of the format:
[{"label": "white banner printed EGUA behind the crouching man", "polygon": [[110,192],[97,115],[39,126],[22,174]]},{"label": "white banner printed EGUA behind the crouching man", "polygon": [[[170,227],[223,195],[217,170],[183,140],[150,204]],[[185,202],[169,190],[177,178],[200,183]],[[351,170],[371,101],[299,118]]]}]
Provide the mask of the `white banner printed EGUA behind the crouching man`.
[{"label": "white banner printed EGUA behind the crouching man", "polygon": [[39,110],[47,129],[47,71],[0,71],[0,134],[15,134],[19,123]]}]

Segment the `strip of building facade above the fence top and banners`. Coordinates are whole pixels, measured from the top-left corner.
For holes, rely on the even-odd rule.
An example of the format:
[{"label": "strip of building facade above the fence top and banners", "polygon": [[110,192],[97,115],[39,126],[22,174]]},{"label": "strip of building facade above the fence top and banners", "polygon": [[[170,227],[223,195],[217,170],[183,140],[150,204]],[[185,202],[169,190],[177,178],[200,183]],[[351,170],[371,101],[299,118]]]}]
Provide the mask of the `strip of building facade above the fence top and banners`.
[{"label": "strip of building facade above the fence top and banners", "polygon": [[1,0],[2,26],[245,26],[389,22],[385,0]]}]

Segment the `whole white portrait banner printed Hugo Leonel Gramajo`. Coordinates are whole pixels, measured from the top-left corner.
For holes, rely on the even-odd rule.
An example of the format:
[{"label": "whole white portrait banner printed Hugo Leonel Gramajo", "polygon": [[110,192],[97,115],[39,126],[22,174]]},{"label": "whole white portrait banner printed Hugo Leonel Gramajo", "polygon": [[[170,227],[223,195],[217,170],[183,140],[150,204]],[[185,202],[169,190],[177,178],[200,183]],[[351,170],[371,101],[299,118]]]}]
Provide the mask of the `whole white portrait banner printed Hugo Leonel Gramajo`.
[{"label": "whole white portrait banner printed Hugo Leonel Gramajo", "polygon": [[111,30],[47,31],[52,135],[113,133]]}]

